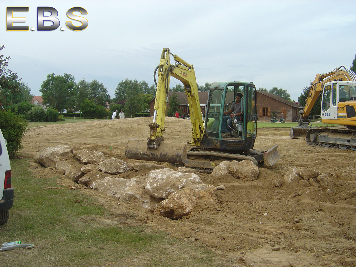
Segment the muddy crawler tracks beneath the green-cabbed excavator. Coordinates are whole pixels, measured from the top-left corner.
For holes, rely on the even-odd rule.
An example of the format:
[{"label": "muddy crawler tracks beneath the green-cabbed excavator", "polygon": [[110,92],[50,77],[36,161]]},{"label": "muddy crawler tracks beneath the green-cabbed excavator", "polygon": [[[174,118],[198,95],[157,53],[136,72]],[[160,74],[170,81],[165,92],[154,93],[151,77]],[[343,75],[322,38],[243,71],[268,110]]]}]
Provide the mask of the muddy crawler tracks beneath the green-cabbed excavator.
[{"label": "muddy crawler tracks beneath the green-cabbed excavator", "polygon": [[[250,155],[262,155],[260,158],[263,158],[263,152],[260,150],[249,150]],[[211,173],[213,172],[214,167],[216,167],[220,162],[226,160],[248,160],[252,161],[256,166],[258,165],[258,160],[249,155],[240,155],[232,154],[220,151],[214,151],[209,149],[200,149],[187,151],[188,163],[179,164],[187,168],[192,168],[201,173]],[[258,158],[258,156],[257,156]],[[177,166],[177,164],[175,165]]]}]

